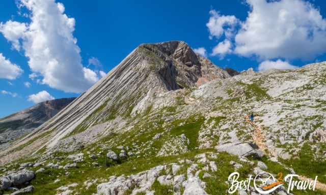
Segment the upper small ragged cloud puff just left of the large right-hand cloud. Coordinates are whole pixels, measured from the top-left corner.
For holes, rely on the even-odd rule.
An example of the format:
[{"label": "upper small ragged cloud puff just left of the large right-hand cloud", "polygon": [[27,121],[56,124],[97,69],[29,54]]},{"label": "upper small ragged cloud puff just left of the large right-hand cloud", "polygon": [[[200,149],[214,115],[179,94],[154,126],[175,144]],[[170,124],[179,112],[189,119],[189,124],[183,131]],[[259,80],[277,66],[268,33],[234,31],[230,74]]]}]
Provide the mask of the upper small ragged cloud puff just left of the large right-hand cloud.
[{"label": "upper small ragged cloud puff just left of the large right-hand cloud", "polygon": [[209,11],[210,18],[206,26],[208,27],[210,39],[220,38],[223,34],[230,38],[233,35],[238,19],[235,16],[220,15],[215,10]]}]

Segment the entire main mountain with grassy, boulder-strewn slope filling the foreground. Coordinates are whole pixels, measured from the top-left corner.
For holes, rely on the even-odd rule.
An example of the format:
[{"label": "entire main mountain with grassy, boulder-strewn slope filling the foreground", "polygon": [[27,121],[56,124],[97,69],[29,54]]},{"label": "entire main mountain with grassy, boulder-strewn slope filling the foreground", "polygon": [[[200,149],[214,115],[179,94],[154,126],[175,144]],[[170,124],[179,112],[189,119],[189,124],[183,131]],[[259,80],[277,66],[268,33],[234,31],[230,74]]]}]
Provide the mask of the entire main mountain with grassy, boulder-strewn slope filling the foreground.
[{"label": "entire main mountain with grassy, boulder-strewn slope filling the foreground", "polygon": [[142,44],[0,152],[0,194],[227,194],[235,171],[318,176],[272,194],[324,194],[325,93],[326,62],[238,73],[182,41]]}]

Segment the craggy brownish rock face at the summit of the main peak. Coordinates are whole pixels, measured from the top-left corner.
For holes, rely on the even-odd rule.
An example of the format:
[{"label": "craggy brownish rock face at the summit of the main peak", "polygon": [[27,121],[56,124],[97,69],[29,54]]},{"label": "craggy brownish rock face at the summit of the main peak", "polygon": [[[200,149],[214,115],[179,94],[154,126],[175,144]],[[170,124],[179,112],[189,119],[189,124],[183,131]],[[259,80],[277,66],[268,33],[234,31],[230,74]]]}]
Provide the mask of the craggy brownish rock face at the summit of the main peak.
[{"label": "craggy brownish rock face at the summit of the main peak", "polygon": [[[145,49],[145,52],[152,52],[155,57],[167,63],[167,67],[159,73],[162,79],[171,85],[167,87],[168,89],[199,86],[213,79],[230,77],[226,71],[216,67],[207,58],[195,54],[182,41],[143,44],[139,48]],[[166,75],[167,70],[171,74]]]}]

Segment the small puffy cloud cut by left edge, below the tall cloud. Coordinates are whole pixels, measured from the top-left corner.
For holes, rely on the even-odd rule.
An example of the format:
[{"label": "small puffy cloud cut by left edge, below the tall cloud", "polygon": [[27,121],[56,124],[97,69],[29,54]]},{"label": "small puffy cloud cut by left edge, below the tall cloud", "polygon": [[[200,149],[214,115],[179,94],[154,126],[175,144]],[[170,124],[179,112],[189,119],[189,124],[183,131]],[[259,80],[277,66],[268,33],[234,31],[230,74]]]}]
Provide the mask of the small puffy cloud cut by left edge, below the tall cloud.
[{"label": "small puffy cloud cut by left edge, below the tall cloud", "polygon": [[0,78],[2,79],[16,79],[23,73],[23,70],[12,63],[9,59],[6,59],[2,53],[0,53]]}]

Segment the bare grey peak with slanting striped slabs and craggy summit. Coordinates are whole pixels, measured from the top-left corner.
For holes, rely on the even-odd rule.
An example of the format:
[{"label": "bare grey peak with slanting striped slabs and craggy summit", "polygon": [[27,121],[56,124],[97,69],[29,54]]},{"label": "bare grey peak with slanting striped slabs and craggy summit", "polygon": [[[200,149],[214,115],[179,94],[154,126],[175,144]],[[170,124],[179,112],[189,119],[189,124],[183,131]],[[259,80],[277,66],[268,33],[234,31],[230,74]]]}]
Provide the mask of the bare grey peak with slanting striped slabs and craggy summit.
[{"label": "bare grey peak with slanting striped slabs and craggy summit", "polygon": [[182,41],[142,44],[106,77],[35,129],[24,141],[53,130],[49,138],[38,139],[39,144],[42,142],[53,147],[73,132],[129,115],[148,93],[199,86],[216,78],[228,77],[225,70],[195,54]]}]

